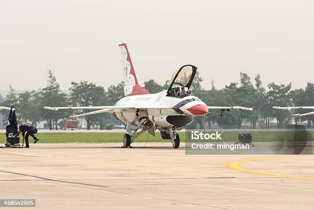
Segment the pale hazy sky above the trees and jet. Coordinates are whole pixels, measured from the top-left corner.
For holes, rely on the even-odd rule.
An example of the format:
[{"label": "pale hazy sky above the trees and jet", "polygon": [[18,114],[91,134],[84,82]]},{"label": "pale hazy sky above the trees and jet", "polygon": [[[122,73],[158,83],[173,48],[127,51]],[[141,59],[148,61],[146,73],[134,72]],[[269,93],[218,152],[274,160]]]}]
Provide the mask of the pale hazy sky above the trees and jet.
[{"label": "pale hazy sky above the trees and jet", "polygon": [[141,85],[164,83],[181,65],[199,67],[210,88],[260,73],[301,88],[314,75],[313,1],[0,0],[0,90],[61,89],[123,80],[125,42]]}]

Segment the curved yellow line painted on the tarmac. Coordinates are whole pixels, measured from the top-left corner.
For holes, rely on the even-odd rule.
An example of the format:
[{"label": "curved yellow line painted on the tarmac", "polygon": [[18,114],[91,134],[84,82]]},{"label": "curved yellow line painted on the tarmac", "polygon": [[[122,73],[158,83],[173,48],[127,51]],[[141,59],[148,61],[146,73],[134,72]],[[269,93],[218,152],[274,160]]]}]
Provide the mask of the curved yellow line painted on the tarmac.
[{"label": "curved yellow line painted on the tarmac", "polygon": [[295,178],[295,179],[314,179],[314,177],[290,176],[290,175],[284,175],[284,174],[262,172],[262,171],[247,169],[245,167],[241,167],[240,166],[240,164],[245,163],[245,162],[250,162],[250,161],[276,159],[276,158],[290,158],[290,157],[296,157],[296,155],[273,156],[273,157],[262,157],[262,158],[245,159],[245,160],[230,162],[226,166],[229,167],[230,169],[234,169],[234,170],[238,170],[238,171],[250,172],[250,173],[255,173],[255,174],[263,174],[263,175],[274,176],[274,177]]}]

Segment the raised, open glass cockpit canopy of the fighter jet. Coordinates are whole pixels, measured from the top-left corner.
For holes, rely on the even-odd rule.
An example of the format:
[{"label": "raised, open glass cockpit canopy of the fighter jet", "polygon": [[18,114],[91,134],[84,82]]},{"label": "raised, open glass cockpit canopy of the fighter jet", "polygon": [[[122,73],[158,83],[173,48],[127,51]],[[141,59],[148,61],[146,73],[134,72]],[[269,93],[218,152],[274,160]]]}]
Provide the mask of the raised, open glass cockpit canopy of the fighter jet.
[{"label": "raised, open glass cockpit canopy of the fighter jet", "polygon": [[173,72],[167,96],[183,98],[192,95],[189,90],[197,67],[185,65]]}]

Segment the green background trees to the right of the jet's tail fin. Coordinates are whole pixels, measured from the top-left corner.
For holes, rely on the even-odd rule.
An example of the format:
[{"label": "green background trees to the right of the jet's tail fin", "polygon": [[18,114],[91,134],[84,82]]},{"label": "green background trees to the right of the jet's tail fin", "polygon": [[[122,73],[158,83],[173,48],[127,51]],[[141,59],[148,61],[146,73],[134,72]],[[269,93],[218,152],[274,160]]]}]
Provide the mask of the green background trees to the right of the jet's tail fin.
[{"label": "green background trees to the right of the jet's tail fin", "polygon": [[[250,129],[269,129],[270,121],[277,122],[277,128],[282,129],[290,124],[307,123],[308,128],[314,128],[314,115],[291,118],[291,112],[286,110],[275,110],[273,106],[314,106],[314,83],[308,82],[304,89],[291,90],[291,83],[288,85],[270,83],[268,90],[263,87],[261,76],[254,77],[254,81],[243,72],[240,72],[240,83],[231,82],[222,90],[214,87],[211,81],[211,89],[204,90],[201,86],[203,78],[200,73],[194,77],[191,89],[193,94],[201,98],[208,106],[241,106],[251,107],[253,111],[232,110],[221,112],[220,110],[209,110],[205,116],[208,128],[215,124],[224,129],[241,129],[244,123],[249,124]],[[151,93],[157,93],[168,88],[169,81],[165,85],[159,85],[153,79],[145,82],[145,88]],[[305,113],[308,110],[296,110],[298,113]],[[222,115],[222,116],[221,116]],[[197,117],[190,125],[202,128],[203,118]]]}]

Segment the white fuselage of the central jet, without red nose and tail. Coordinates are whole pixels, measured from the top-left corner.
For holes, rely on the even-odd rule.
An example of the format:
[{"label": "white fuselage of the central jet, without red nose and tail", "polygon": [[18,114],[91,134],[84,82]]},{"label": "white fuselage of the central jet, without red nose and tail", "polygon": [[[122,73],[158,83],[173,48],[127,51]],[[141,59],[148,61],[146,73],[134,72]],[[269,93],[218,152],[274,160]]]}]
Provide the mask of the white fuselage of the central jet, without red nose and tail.
[{"label": "white fuselage of the central jet, without red nose and tail", "polygon": [[[198,104],[204,104],[204,106],[206,106],[206,104],[196,96],[176,98],[166,95],[167,91],[156,94],[126,96],[117,101],[116,106],[127,105],[136,108],[136,110],[120,110],[119,112],[115,112],[115,115],[125,123],[131,123],[136,119],[148,117],[156,127],[169,128],[172,127],[173,124],[169,122],[169,118],[167,120],[168,116],[190,116],[189,119],[193,119],[195,114],[188,111],[188,109]],[[190,122],[191,121],[188,123]]]}]

